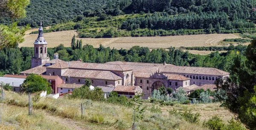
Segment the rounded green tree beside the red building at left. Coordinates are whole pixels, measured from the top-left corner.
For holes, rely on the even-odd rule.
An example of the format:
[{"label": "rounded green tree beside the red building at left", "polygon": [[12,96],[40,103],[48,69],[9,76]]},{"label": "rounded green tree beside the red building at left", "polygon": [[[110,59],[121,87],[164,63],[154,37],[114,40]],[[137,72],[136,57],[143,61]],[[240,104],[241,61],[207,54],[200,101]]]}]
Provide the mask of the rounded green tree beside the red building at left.
[{"label": "rounded green tree beside the red building at left", "polygon": [[30,74],[20,86],[20,91],[25,93],[47,91],[47,94],[50,94],[52,92],[50,85],[51,84],[47,82],[47,79],[41,77],[40,75]]}]

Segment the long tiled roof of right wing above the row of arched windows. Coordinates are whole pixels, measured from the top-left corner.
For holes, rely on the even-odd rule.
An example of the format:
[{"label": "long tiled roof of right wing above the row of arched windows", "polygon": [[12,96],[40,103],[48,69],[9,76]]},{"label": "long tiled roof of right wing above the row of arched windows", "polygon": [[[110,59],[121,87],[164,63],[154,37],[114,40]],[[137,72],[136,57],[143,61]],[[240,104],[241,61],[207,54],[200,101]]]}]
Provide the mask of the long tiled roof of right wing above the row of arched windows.
[{"label": "long tiled roof of right wing above the row of arched windows", "polygon": [[224,76],[230,73],[207,67],[189,67],[189,66],[159,66],[160,71],[172,72],[172,73],[184,73],[184,74],[198,74],[198,75],[218,75]]}]

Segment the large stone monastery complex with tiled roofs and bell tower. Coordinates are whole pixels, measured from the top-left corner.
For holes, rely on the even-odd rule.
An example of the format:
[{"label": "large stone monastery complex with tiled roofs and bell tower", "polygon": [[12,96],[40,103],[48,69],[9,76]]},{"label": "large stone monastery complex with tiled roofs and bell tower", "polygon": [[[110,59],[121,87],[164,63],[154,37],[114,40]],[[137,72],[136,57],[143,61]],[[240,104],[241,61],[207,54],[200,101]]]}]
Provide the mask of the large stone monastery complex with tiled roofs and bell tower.
[{"label": "large stone monastery complex with tiled roofs and bell tower", "polygon": [[81,61],[61,61],[58,54],[54,59],[47,56],[47,42],[43,36],[42,22],[38,38],[34,43],[32,69],[20,72],[39,75],[58,75],[65,83],[84,84],[90,79],[93,86],[140,86],[145,96],[150,96],[154,89],[165,86],[177,89],[180,86],[214,84],[218,78],[229,77],[228,72],[215,68],[174,66],[172,64],[151,64],[113,61],[105,64],[83,63]]}]

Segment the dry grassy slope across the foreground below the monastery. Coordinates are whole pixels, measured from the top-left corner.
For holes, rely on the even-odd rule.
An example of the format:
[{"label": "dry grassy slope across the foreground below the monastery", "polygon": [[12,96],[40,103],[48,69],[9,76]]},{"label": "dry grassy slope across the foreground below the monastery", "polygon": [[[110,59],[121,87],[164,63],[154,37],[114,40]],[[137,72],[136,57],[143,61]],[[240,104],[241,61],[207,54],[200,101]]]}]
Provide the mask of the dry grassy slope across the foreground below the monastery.
[{"label": "dry grassy slope across the foreground below the monastery", "polygon": [[[0,129],[76,129],[76,130],[129,130],[132,126],[132,108],[109,104],[105,102],[93,102],[90,100],[70,100],[67,98],[51,99],[40,98],[33,102],[33,115],[28,116],[28,97],[25,94],[12,94],[5,91],[5,100],[0,100]],[[81,116],[81,103],[84,104],[84,115]],[[152,106],[159,106],[161,113],[152,112]],[[233,115],[220,103],[162,106],[159,104],[143,103],[144,118],[137,122],[138,130],[207,130],[202,126],[204,120],[214,115],[221,116],[224,121],[230,120]],[[169,115],[169,110],[184,111],[191,109],[192,113],[201,114],[199,124],[186,122],[180,116]],[[25,124],[26,122],[26,124]]]}]

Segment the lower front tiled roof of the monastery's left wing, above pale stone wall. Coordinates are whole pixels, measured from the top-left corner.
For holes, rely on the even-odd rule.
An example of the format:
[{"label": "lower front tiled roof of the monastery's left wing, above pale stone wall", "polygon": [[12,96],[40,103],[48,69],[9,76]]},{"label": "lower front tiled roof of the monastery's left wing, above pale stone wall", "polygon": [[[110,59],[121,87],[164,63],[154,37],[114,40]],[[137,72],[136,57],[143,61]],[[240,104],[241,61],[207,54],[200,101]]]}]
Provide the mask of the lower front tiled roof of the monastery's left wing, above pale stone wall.
[{"label": "lower front tiled roof of the monastery's left wing, above pale stone wall", "polygon": [[67,69],[62,76],[82,77],[82,78],[102,79],[102,80],[121,80],[122,79],[122,77],[117,76],[111,71],[86,70],[86,69]]}]

